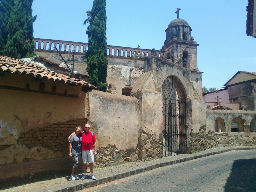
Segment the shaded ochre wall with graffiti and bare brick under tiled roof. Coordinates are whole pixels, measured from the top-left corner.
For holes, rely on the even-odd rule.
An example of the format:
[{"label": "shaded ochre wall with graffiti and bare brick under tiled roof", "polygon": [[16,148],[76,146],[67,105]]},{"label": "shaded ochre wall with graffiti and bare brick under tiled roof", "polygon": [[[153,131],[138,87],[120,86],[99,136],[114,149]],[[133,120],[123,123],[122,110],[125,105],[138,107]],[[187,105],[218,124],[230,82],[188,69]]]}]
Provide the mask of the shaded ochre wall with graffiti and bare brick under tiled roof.
[{"label": "shaded ochre wall with graffiti and bare brick under tiled roof", "polygon": [[[19,74],[5,73],[0,81],[0,183],[11,177],[19,180],[38,173],[44,173],[43,178],[53,171],[61,173],[55,166],[45,170],[37,166],[26,169],[23,165],[66,157],[68,135],[87,122],[86,93],[81,86]],[[39,89],[41,82],[44,90]],[[67,164],[71,166],[72,161]],[[12,173],[6,175],[6,169]]]}]

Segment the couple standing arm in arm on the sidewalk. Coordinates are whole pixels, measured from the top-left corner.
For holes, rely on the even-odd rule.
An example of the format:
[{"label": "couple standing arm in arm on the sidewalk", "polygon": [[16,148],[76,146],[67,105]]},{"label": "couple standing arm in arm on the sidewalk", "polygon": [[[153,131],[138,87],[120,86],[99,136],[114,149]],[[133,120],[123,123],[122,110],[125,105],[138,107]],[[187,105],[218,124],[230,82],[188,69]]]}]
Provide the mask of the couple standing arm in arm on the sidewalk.
[{"label": "couple standing arm in arm on the sidewalk", "polygon": [[[94,156],[97,155],[97,145],[95,134],[90,131],[90,125],[86,124],[84,126],[84,131],[81,127],[76,127],[76,131],[68,137],[69,143],[69,157],[73,158],[74,166],[72,169],[72,174],[70,176],[71,180],[79,179],[77,176],[77,166],[79,159],[82,156],[83,159],[83,177],[81,179],[86,179],[87,162],[89,163],[89,168],[91,172],[90,178],[95,180],[93,175],[93,163]],[[94,150],[93,150],[94,148]]]}]

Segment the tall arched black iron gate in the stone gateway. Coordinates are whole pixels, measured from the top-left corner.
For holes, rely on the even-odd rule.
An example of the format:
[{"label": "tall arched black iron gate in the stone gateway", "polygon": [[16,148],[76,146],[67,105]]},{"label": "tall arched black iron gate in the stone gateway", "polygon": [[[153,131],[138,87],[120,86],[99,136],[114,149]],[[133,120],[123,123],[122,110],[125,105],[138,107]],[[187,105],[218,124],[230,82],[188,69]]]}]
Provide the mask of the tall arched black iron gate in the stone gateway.
[{"label": "tall arched black iron gate in the stone gateway", "polygon": [[186,99],[181,83],[174,76],[162,85],[163,94],[163,156],[186,153]]}]

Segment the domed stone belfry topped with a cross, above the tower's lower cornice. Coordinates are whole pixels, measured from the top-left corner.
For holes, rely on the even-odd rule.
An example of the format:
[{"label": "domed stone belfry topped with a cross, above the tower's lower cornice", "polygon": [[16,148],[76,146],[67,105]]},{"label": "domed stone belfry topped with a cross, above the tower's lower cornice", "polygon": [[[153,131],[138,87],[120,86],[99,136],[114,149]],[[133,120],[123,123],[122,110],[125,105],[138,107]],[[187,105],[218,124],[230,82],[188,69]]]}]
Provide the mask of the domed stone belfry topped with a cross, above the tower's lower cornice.
[{"label": "domed stone belfry topped with a cross, above the tower's lower cornice", "polygon": [[180,10],[177,8],[175,12],[177,19],[172,20],[165,30],[166,40],[161,50],[164,51],[164,58],[171,59],[173,63],[193,71],[198,71],[197,46],[199,44],[191,36],[192,29],[188,23],[179,18]]}]

